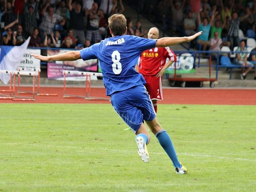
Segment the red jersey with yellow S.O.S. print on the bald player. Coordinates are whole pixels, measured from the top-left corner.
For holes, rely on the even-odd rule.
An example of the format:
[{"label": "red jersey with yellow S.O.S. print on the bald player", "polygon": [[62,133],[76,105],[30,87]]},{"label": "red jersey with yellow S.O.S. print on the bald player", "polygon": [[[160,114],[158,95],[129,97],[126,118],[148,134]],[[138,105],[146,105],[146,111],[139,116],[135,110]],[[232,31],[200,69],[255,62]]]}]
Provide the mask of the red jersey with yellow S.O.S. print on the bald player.
[{"label": "red jersey with yellow S.O.S. print on the bald player", "polygon": [[139,72],[142,75],[155,76],[165,65],[166,59],[176,61],[176,55],[169,47],[155,47],[141,53]]}]

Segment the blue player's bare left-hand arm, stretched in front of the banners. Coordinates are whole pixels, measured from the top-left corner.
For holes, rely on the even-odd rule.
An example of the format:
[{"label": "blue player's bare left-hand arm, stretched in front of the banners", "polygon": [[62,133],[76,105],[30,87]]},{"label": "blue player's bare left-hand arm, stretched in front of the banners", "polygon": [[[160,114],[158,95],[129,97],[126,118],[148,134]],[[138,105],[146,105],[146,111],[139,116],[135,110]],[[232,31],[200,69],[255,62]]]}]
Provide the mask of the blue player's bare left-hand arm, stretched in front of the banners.
[{"label": "blue player's bare left-hand arm, stretched in front of the banners", "polygon": [[43,56],[31,53],[31,56],[39,59],[41,61],[74,61],[81,59],[81,55],[79,51],[69,51],[65,53],[61,53],[59,55],[51,55],[51,56]]}]

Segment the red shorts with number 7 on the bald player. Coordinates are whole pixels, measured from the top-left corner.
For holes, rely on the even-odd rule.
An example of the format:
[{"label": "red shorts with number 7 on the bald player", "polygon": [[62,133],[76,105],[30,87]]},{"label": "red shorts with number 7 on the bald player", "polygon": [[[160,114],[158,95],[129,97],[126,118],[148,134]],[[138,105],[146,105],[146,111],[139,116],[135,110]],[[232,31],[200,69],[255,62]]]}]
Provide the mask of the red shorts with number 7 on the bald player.
[{"label": "red shorts with number 7 on the bald player", "polygon": [[162,78],[156,76],[144,76],[145,85],[151,100],[163,100]]}]

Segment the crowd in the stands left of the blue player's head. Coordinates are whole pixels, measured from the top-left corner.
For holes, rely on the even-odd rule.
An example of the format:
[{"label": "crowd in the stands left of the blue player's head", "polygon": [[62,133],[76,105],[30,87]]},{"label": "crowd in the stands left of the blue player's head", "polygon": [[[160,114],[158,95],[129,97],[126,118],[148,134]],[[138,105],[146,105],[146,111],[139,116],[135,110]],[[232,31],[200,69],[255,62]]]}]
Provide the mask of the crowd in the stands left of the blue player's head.
[{"label": "crowd in the stands left of the blue player's head", "polygon": [[[122,0],[1,0],[1,45],[84,48],[110,36],[107,18]],[[137,33],[138,34],[138,33]]]}]

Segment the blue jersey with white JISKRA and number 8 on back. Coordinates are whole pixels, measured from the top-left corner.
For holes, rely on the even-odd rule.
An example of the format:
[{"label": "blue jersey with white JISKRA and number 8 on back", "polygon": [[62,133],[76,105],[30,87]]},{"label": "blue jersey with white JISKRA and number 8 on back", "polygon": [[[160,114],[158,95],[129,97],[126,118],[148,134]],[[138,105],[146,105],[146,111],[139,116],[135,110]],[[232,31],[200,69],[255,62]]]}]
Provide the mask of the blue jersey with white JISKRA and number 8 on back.
[{"label": "blue jersey with white JISKRA and number 8 on back", "polygon": [[100,60],[106,94],[111,95],[146,84],[144,77],[134,67],[141,52],[155,46],[155,39],[130,35],[114,36],[82,49],[80,55],[83,60]]}]

